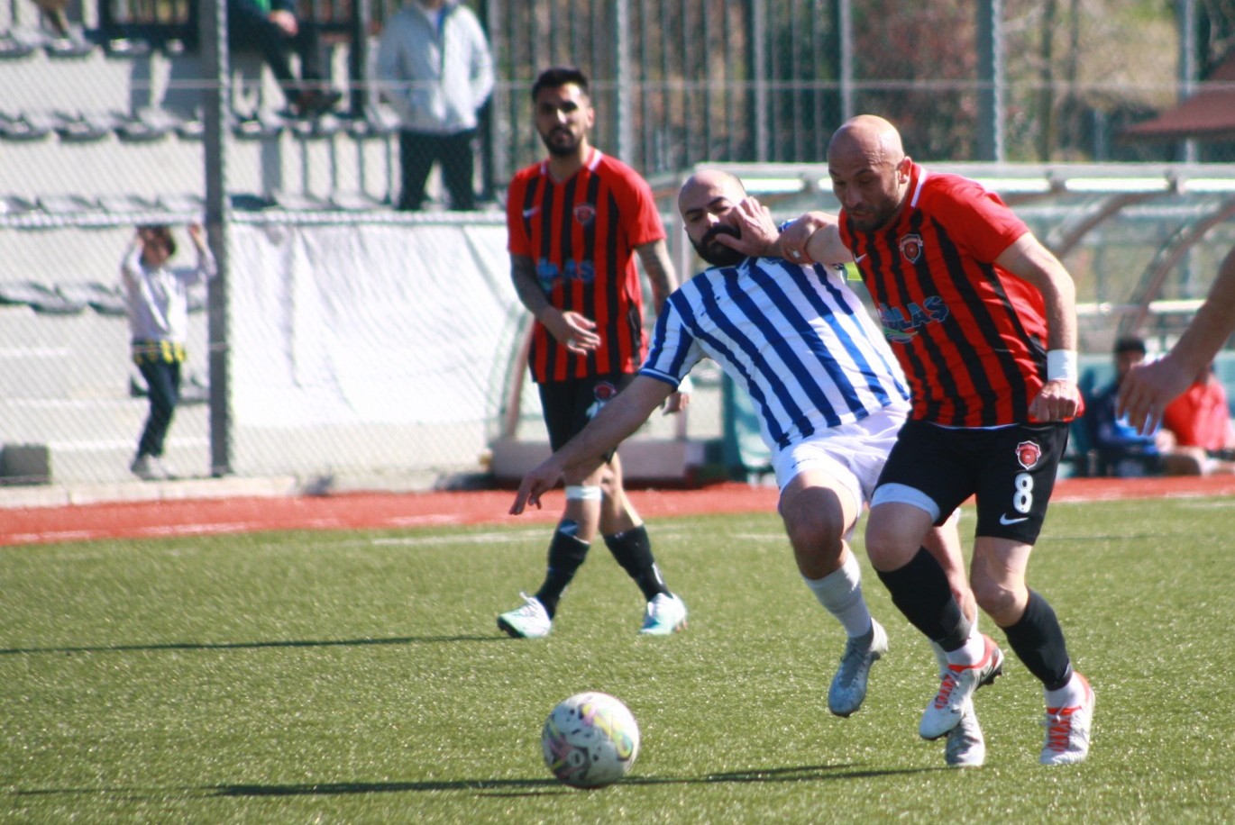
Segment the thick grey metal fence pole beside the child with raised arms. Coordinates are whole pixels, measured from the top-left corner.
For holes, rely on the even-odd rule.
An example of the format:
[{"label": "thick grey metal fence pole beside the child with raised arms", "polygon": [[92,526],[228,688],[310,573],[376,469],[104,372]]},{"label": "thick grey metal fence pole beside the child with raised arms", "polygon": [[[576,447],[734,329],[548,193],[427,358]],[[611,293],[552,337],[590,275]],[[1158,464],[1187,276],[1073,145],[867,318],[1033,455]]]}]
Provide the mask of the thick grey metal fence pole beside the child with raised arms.
[{"label": "thick grey metal fence pole beside the child with raised arms", "polygon": [[201,32],[201,67],[205,88],[203,109],[205,136],[206,238],[219,263],[219,275],[210,281],[206,296],[210,337],[210,475],[225,476],[231,467],[230,382],[227,376],[227,112],[231,101],[231,63],[227,53],[227,4],[201,0],[198,7]]}]

